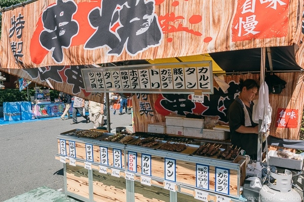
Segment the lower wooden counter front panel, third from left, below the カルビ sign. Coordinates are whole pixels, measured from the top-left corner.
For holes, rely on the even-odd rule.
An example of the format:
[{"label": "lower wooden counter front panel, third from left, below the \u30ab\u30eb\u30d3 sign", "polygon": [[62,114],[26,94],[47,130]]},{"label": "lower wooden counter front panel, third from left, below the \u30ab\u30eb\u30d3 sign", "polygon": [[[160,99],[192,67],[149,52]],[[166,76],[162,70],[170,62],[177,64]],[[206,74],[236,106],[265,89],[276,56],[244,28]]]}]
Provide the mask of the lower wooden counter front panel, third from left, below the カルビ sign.
[{"label": "lower wooden counter front panel, third from left, below the \u30ab\u30eb\u30d3 sign", "polygon": [[168,202],[170,191],[157,186],[147,186],[134,182],[135,202]]}]

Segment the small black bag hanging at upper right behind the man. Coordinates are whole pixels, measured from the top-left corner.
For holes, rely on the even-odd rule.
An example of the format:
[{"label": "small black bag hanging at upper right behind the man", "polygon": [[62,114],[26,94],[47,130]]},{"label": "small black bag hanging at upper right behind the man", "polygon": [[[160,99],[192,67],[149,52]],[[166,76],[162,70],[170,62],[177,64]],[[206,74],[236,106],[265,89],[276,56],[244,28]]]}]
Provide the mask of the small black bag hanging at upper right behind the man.
[{"label": "small black bag hanging at upper right behind the man", "polygon": [[280,79],[280,77],[273,73],[266,74],[265,82],[268,85],[269,93],[274,94],[280,94],[286,85],[286,81]]}]

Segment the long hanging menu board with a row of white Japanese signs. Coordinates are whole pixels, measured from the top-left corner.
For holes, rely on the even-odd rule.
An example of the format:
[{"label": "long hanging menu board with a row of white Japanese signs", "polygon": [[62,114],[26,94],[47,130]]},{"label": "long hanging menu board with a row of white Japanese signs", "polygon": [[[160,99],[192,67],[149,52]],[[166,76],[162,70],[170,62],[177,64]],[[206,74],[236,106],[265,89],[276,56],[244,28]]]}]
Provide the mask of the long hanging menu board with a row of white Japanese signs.
[{"label": "long hanging menu board with a row of white Japanese signs", "polygon": [[82,69],[87,92],[213,94],[212,62]]}]

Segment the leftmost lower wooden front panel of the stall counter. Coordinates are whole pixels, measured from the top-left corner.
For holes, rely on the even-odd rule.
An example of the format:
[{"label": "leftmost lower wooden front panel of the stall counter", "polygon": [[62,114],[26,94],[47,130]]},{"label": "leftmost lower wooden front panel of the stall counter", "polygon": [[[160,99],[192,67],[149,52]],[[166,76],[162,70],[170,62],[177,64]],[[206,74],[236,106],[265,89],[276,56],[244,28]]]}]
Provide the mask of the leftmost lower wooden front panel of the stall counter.
[{"label": "leftmost lower wooden front panel of the stall counter", "polygon": [[66,164],[66,187],[68,192],[89,198],[88,170]]}]

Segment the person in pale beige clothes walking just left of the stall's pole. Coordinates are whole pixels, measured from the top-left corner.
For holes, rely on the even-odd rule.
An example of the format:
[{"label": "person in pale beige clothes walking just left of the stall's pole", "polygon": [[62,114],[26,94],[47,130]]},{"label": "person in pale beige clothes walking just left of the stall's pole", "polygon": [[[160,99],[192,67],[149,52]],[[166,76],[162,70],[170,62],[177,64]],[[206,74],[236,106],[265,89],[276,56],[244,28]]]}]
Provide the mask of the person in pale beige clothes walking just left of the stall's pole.
[{"label": "person in pale beige clothes walking just left of the stall's pole", "polygon": [[94,124],[94,129],[103,126],[103,104],[89,101],[89,117]]}]

